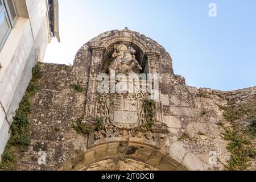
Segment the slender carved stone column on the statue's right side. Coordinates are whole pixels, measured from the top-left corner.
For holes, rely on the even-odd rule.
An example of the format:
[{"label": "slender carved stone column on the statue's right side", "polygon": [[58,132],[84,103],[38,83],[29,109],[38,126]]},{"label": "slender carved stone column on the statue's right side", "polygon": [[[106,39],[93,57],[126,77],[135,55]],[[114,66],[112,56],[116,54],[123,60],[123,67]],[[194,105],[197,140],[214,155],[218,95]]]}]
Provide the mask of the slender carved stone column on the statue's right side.
[{"label": "slender carved stone column on the statue's right side", "polygon": [[[152,74],[152,89],[155,90],[154,94],[157,94],[155,100],[155,121],[156,123],[163,122],[162,109],[160,103],[160,93],[159,93],[159,57],[160,53],[157,52],[146,52],[146,60],[148,65],[148,73]],[[158,75],[155,75],[158,74]],[[158,77],[156,77],[158,76]],[[157,79],[157,82],[154,80]],[[158,88],[155,86],[158,85]]]}]

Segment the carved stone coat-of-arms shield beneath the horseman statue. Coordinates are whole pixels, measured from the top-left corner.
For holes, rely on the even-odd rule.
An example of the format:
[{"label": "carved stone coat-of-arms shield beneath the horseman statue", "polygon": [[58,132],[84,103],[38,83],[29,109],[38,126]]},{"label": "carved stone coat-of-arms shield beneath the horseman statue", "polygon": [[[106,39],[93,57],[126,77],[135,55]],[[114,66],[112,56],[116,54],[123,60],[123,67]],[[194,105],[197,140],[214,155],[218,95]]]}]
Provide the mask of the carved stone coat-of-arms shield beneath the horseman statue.
[{"label": "carved stone coat-of-arms shield beneath the horseman statue", "polygon": [[147,94],[102,94],[99,97],[98,118],[105,125],[133,129],[144,123],[143,101]]}]

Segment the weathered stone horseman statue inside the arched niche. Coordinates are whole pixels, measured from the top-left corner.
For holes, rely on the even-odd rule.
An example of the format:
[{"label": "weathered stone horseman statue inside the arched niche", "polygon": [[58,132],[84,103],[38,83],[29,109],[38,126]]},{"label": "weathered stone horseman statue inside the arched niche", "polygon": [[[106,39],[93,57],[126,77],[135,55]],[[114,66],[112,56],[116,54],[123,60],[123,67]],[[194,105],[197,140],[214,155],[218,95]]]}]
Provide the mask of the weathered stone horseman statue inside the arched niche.
[{"label": "weathered stone horseman statue inside the arched niche", "polygon": [[112,58],[114,61],[109,66],[115,70],[115,73],[139,73],[142,70],[141,65],[135,59],[135,49],[124,44],[115,45]]}]

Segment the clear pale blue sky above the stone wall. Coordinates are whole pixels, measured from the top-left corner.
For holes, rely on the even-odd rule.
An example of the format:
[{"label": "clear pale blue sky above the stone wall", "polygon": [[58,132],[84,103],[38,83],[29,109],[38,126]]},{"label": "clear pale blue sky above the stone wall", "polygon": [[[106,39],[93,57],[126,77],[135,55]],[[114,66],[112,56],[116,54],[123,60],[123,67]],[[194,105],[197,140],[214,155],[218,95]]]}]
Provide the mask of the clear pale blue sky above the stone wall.
[{"label": "clear pale blue sky above the stone wall", "polygon": [[[217,17],[210,18],[209,3]],[[140,32],[171,54],[187,85],[220,90],[256,86],[255,0],[59,0],[61,43],[44,62],[72,64],[79,48],[102,32]]]}]

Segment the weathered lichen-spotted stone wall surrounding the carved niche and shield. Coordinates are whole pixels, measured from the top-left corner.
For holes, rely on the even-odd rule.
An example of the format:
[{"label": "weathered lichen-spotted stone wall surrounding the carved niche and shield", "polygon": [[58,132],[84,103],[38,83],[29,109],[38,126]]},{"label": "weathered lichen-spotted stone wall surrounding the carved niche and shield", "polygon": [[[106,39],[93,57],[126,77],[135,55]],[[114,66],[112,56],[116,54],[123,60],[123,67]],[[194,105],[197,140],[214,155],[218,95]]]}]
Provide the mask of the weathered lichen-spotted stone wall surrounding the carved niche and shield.
[{"label": "weathered lichen-spotted stone wall surrounding the carved niche and shield", "polygon": [[[84,119],[92,59],[90,46],[104,47],[106,42],[114,42],[115,37],[125,37],[127,41],[132,38],[144,51],[160,53],[162,122],[170,133],[154,142],[143,143],[133,137],[110,138],[108,142],[88,147],[90,135],[78,134],[72,121]],[[255,87],[222,92],[185,85],[183,77],[174,75],[171,57],[159,44],[129,30],[110,31],[94,38],[77,52],[72,67],[56,64],[40,64],[40,67],[42,89],[32,101],[30,115],[32,143],[27,151],[17,152],[17,170],[117,169],[115,165],[121,166],[118,169],[222,170],[230,154],[226,149],[228,142],[221,136],[224,129],[218,125],[224,120],[219,106],[256,103]],[[85,89],[78,92],[71,88],[72,84]],[[123,165],[125,161],[131,168]],[[105,167],[100,167],[103,164]]]}]

